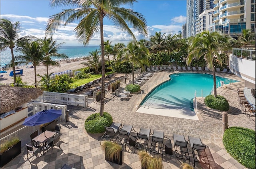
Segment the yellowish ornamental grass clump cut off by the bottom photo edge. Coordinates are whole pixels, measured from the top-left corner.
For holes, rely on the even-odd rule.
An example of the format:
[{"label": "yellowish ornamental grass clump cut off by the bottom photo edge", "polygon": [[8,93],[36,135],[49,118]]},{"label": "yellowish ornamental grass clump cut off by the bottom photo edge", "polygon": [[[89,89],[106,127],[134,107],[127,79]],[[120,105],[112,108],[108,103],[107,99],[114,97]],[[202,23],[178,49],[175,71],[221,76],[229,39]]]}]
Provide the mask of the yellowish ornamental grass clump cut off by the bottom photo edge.
[{"label": "yellowish ornamental grass clump cut off by the bottom photo edge", "polygon": [[141,160],[142,169],[162,169],[162,158],[161,157],[151,157],[146,151],[140,151],[139,157]]}]

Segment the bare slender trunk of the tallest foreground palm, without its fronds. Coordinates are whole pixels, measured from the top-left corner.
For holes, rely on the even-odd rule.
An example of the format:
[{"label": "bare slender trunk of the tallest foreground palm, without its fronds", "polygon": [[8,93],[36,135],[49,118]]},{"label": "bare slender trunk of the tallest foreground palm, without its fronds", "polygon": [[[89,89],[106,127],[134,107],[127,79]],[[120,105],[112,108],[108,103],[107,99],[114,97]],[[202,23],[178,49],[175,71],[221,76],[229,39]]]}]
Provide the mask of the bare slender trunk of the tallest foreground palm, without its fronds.
[{"label": "bare slender trunk of the tallest foreground palm, without its fronds", "polygon": [[100,116],[103,116],[104,112],[104,96],[105,96],[105,56],[104,56],[104,38],[103,38],[103,18],[104,14],[100,15],[100,44],[101,44],[101,99],[100,99]]}]

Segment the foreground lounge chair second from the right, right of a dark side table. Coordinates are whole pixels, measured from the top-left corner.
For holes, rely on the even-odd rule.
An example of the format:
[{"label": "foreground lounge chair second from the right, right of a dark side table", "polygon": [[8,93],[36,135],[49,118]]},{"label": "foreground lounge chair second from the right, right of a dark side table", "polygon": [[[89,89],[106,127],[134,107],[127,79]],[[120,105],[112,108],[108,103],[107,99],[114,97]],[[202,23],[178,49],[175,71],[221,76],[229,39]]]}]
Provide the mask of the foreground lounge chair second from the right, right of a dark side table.
[{"label": "foreground lounge chair second from the right, right of a dark side table", "polygon": [[175,162],[177,163],[177,158],[189,160],[190,164],[190,157],[188,153],[188,142],[185,140],[183,135],[173,134],[172,135],[174,140],[174,149],[175,149]]}]

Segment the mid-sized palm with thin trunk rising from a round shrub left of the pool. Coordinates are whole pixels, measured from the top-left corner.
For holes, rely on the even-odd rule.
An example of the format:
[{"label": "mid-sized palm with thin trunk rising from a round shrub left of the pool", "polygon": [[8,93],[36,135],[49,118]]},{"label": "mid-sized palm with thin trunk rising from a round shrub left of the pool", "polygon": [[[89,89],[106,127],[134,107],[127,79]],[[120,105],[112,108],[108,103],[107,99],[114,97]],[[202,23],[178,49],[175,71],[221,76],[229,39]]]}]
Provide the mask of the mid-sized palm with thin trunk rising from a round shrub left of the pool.
[{"label": "mid-sized palm with thin trunk rising from a round shrub left of the pool", "polygon": [[121,49],[117,55],[116,64],[129,61],[132,64],[132,84],[134,85],[134,65],[140,65],[142,68],[145,65],[149,65],[147,58],[148,49],[143,43],[137,41],[128,42],[127,46]]}]

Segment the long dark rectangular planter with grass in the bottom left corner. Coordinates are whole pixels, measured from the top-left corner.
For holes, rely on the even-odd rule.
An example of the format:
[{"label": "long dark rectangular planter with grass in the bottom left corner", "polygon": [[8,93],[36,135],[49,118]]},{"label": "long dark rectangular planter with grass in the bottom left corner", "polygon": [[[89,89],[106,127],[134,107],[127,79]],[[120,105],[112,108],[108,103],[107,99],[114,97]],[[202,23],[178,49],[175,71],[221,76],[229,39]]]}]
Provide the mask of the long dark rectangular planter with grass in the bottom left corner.
[{"label": "long dark rectangular planter with grass in the bottom left corner", "polygon": [[21,153],[21,141],[14,137],[0,145],[0,166],[3,167]]}]

